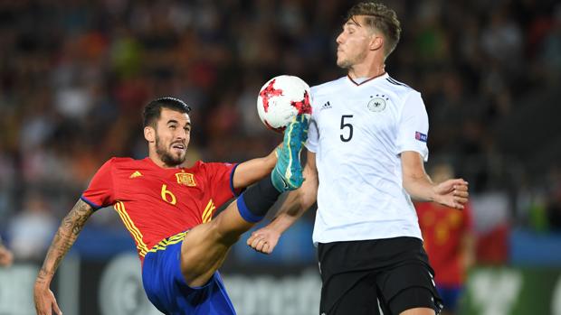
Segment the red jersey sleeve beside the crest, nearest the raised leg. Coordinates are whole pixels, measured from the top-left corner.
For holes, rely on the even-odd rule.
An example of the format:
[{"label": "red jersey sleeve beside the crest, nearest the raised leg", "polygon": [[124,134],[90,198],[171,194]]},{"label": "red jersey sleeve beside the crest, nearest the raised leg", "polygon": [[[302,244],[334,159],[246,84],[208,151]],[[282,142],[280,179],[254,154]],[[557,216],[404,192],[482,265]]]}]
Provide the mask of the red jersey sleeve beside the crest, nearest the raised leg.
[{"label": "red jersey sleeve beside the crest, nearest the raised leg", "polygon": [[204,163],[210,181],[215,204],[220,205],[237,196],[241,191],[233,189],[233,173],[239,164],[211,162]]}]

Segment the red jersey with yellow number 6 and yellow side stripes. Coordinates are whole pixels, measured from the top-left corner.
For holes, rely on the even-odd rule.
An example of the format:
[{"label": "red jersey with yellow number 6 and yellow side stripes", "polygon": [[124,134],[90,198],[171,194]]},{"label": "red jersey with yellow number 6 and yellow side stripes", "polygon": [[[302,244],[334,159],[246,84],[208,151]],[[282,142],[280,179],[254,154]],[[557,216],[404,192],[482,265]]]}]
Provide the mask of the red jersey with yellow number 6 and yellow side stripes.
[{"label": "red jersey with yellow number 6 and yellow side stripes", "polygon": [[112,158],[93,176],[81,199],[113,206],[137,244],[140,260],[162,239],[208,222],[233,198],[235,165],[196,162],[164,169],[149,158]]}]

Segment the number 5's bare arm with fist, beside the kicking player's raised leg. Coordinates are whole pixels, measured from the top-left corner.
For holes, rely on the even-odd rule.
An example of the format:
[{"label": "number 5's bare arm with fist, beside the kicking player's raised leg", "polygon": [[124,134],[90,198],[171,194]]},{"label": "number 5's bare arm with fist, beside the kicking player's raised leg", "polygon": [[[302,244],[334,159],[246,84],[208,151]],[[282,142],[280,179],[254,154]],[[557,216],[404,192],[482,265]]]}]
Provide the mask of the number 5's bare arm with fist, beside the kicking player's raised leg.
[{"label": "number 5's bare arm with fist, beside the kicking player's raised leg", "polygon": [[302,187],[290,191],[271,223],[252,233],[252,236],[247,240],[248,246],[258,252],[271,254],[282,233],[316,202],[319,186],[316,153],[308,152],[308,160],[303,173],[306,181],[304,181]]}]

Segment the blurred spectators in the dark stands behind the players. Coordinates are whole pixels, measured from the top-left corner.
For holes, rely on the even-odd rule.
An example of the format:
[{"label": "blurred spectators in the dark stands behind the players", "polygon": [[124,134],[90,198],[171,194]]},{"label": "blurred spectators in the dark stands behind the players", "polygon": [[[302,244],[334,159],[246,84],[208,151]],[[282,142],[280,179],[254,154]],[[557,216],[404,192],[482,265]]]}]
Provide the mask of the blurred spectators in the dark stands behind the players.
[{"label": "blurred spectators in the dark stands behind the players", "polygon": [[[0,235],[16,257],[43,255],[103,162],[147,155],[140,111],[156,97],[179,97],[194,108],[190,162],[269,153],[281,136],[259,121],[259,88],[281,74],[310,86],[344,75],[335,65],[335,39],[353,3],[0,2]],[[561,229],[561,164],[527,165],[501,149],[496,132],[531,106],[519,100],[558,93],[561,5],[387,5],[404,31],[386,70],[423,93],[430,160],[451,163],[471,182],[476,229]]]}]

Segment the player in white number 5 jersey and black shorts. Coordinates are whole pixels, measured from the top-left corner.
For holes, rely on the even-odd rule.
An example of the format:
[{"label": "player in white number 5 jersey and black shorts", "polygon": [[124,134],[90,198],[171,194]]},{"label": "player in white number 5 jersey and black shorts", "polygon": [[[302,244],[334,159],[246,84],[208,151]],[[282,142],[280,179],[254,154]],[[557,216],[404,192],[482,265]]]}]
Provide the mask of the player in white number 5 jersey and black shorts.
[{"label": "player in white number 5 jersey and black shorts", "polygon": [[313,203],[322,280],[320,314],[434,314],[442,309],[411,198],[462,209],[468,183],[433,183],[421,94],[392,79],[385,59],[401,32],[395,12],[353,6],[337,38],[347,76],[311,89],[306,181],[248,245],[271,253]]}]

